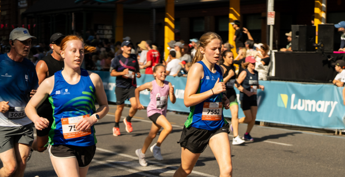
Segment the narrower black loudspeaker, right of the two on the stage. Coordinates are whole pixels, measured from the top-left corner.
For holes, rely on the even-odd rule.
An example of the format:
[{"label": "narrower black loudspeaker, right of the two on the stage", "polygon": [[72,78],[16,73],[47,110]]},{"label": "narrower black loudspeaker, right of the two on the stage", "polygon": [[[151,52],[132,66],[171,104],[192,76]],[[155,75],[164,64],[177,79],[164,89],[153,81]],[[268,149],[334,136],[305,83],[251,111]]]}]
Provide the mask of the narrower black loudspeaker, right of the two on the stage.
[{"label": "narrower black loudspeaker, right of the two on the stage", "polygon": [[334,49],[334,24],[319,24],[318,44],[323,44],[323,51],[333,52]]}]

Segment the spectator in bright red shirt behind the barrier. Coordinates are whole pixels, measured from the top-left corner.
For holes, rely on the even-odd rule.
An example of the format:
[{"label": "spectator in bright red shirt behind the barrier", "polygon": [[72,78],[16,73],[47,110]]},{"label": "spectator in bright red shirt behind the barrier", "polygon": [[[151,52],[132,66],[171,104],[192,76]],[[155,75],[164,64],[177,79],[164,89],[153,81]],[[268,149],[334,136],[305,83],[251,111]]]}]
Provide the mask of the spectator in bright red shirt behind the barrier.
[{"label": "spectator in bright red shirt behind the barrier", "polygon": [[149,49],[149,52],[147,52],[147,57],[146,57],[146,64],[140,66],[140,69],[146,68],[145,74],[153,74],[153,67],[159,63],[160,54],[158,51],[152,49],[151,40],[146,41],[146,48]]}]

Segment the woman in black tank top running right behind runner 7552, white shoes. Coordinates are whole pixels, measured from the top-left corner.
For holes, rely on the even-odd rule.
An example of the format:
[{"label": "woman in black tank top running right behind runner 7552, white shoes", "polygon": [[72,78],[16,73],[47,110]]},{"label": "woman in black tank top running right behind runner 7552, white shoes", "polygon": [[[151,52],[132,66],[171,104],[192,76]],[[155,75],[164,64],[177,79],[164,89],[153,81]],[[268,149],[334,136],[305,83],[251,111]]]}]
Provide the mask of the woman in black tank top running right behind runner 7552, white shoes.
[{"label": "woman in black tank top running right behind runner 7552, white shoes", "polygon": [[[237,95],[234,90],[234,86],[236,87],[242,87],[239,83],[236,81],[236,68],[233,66],[233,53],[230,50],[226,50],[222,53],[222,57],[224,60],[224,63],[221,65],[224,68],[224,74],[223,74],[223,81],[226,85],[226,97],[230,101],[230,111],[231,111],[231,125],[230,130],[233,132],[233,138],[232,138],[232,144],[233,145],[240,145],[242,143],[245,143],[244,140],[242,140],[238,136],[238,102],[237,102]],[[243,87],[242,87],[243,90]]]}]

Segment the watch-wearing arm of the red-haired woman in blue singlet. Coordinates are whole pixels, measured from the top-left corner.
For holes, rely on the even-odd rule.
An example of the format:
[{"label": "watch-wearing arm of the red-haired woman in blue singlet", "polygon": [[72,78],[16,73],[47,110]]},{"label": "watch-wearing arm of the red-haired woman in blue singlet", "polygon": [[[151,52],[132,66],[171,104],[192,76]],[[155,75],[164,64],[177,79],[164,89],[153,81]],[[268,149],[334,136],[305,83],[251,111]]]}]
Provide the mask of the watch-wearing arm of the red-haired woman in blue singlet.
[{"label": "watch-wearing arm of the red-haired woman in blue singlet", "polygon": [[[93,85],[95,86],[96,100],[99,105],[99,108],[96,110],[96,112],[94,112],[94,114],[98,114],[99,119],[101,119],[104,116],[106,116],[107,113],[109,112],[107,95],[103,87],[102,79],[99,77],[99,75],[90,71],[88,71],[88,73],[90,75],[90,79]],[[96,122],[97,122],[97,119],[95,118],[94,115],[83,118],[76,124],[76,129],[79,129],[80,131],[84,131],[90,128]]]}]

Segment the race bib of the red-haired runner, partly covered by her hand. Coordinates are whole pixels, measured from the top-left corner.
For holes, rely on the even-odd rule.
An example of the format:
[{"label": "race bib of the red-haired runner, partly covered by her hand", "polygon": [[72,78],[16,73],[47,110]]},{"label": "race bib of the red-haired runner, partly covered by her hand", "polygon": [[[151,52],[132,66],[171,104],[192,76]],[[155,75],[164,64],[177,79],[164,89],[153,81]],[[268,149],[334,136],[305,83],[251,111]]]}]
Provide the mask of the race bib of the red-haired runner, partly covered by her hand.
[{"label": "race bib of the red-haired runner, partly covered by her hand", "polygon": [[79,138],[79,137],[91,135],[91,128],[88,128],[85,131],[76,130],[76,124],[79,122],[79,120],[85,117],[90,117],[90,116],[82,115],[82,116],[77,116],[77,117],[61,118],[63,138],[71,139],[71,138]]}]

